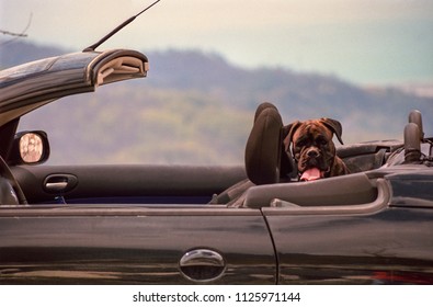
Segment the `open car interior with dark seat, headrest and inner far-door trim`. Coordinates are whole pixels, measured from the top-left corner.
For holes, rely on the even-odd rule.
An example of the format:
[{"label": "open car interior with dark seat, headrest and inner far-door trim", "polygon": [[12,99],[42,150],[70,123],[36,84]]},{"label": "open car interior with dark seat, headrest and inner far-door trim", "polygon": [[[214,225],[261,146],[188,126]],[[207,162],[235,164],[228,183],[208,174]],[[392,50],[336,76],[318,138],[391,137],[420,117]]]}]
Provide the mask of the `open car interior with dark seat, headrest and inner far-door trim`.
[{"label": "open car interior with dark seat, headrest and inner far-door trim", "polygon": [[[227,207],[342,206],[377,201],[377,177],[402,144],[366,143],[338,148],[351,170],[344,178],[297,181],[296,166],[282,146],[283,122],[271,103],[261,104],[247,140],[244,167],[38,166],[49,155],[43,132],[36,162],[22,160],[19,134],[8,162],[32,204],[210,204]],[[13,182],[13,181],[12,181]],[[381,186],[379,184],[379,186]],[[22,196],[21,196],[22,198]]]}]

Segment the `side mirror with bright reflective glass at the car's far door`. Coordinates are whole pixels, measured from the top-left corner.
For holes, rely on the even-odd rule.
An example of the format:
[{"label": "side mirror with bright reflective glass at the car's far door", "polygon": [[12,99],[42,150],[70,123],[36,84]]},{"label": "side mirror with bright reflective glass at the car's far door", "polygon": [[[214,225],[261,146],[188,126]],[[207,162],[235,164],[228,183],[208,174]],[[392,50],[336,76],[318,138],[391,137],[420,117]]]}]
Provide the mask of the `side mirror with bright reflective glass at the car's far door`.
[{"label": "side mirror with bright reflective glass at the car's far door", "polygon": [[15,135],[9,157],[11,164],[39,164],[49,157],[49,143],[45,132],[22,132]]}]

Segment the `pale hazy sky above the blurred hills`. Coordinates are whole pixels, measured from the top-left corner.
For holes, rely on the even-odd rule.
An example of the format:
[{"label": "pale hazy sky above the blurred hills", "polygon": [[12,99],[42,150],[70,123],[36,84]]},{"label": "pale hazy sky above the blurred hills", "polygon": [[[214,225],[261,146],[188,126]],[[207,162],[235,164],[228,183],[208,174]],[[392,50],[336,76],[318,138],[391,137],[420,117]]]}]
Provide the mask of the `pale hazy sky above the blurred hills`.
[{"label": "pale hazy sky above the blurred hills", "polygon": [[[81,50],[152,1],[0,0],[0,30],[29,26],[23,39]],[[244,68],[368,86],[432,84],[433,0],[161,0],[100,48],[112,47],[200,49]]]}]

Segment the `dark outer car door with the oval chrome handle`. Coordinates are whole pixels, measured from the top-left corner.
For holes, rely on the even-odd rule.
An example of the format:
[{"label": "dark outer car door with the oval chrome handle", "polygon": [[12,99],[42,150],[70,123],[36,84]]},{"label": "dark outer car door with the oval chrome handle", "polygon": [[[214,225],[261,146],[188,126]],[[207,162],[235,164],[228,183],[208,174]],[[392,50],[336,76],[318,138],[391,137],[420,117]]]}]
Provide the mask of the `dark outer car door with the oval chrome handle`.
[{"label": "dark outer car door with the oval chrome handle", "polygon": [[258,209],[220,205],[0,208],[2,284],[275,284]]}]

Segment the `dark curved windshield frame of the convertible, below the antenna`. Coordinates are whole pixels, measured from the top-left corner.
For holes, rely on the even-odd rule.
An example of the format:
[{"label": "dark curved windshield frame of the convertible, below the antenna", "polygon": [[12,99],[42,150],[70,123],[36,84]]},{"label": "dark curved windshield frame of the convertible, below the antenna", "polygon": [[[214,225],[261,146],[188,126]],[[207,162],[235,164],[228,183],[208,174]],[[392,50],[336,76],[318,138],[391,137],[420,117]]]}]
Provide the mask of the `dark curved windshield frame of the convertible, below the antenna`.
[{"label": "dark curved windshield frame of the convertible, below the antenna", "polygon": [[83,52],[0,71],[0,126],[58,98],[146,77],[147,57],[136,50]]}]

